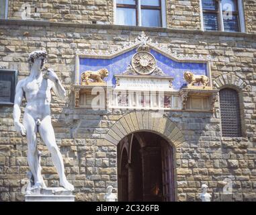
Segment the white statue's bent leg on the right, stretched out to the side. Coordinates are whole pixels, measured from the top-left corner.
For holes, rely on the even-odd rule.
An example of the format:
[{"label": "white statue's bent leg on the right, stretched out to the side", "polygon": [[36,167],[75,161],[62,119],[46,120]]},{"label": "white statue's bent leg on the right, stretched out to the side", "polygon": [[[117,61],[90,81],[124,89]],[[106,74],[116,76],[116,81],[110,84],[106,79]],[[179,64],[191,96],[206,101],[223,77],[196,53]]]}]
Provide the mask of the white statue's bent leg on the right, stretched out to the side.
[{"label": "white statue's bent leg on the right, stretched out to the side", "polygon": [[58,172],[58,175],[60,177],[60,185],[62,185],[66,189],[73,190],[74,186],[71,183],[69,183],[69,181],[67,181],[67,178],[65,176],[63,159],[60,150],[58,149],[58,146],[56,144],[50,116],[46,116],[42,120],[40,126],[38,127],[38,130],[42,140],[50,150],[52,162],[54,163],[56,171]]}]

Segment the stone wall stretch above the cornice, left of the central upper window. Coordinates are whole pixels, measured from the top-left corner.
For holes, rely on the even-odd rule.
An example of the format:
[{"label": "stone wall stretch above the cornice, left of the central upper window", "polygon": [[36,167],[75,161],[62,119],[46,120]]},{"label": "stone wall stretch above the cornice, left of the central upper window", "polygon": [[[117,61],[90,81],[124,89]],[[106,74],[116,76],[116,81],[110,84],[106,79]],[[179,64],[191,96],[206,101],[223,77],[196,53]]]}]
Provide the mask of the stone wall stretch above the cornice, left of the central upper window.
[{"label": "stone wall stretch above the cornice, left of the central upper window", "polygon": [[50,22],[84,24],[113,23],[113,1],[106,0],[48,0],[10,1],[9,18],[22,19],[22,11],[30,7],[30,19]]}]

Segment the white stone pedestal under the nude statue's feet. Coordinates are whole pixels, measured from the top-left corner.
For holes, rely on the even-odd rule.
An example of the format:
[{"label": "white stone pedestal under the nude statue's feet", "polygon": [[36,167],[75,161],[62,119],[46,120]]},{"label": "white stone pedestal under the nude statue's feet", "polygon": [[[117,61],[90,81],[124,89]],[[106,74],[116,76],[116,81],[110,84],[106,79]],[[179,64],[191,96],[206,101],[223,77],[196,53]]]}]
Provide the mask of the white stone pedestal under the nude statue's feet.
[{"label": "white stone pedestal under the nude statue's feet", "polygon": [[62,187],[38,188],[25,195],[25,202],[75,202],[75,196]]}]

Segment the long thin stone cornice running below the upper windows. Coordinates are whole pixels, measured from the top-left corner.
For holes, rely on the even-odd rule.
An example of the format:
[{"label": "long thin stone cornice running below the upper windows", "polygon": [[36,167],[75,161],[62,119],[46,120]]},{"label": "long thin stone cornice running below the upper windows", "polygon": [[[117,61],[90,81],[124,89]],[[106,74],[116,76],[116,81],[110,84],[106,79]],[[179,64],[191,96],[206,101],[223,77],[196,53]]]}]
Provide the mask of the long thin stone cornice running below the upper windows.
[{"label": "long thin stone cornice running below the upper windows", "polygon": [[230,36],[241,38],[256,38],[256,34],[242,32],[204,32],[202,30],[183,30],[175,28],[148,28],[140,26],[117,26],[102,24],[76,24],[67,22],[48,22],[38,20],[20,20],[20,19],[0,19],[0,26],[37,26],[37,27],[65,27],[65,28],[97,28],[108,30],[130,30],[144,32],[162,32],[162,33],[179,33],[179,34],[201,34],[207,36]]}]

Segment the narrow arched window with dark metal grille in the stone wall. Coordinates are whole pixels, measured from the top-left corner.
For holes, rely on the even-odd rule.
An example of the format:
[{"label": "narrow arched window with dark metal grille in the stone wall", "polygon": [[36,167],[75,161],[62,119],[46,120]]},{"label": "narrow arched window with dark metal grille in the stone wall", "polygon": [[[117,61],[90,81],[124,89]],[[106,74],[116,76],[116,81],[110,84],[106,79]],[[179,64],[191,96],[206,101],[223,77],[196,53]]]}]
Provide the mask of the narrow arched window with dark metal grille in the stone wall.
[{"label": "narrow arched window with dark metal grille in the stone wall", "polygon": [[222,136],[241,136],[239,95],[234,89],[225,88],[220,90],[220,116]]}]

